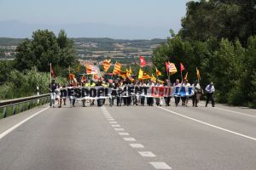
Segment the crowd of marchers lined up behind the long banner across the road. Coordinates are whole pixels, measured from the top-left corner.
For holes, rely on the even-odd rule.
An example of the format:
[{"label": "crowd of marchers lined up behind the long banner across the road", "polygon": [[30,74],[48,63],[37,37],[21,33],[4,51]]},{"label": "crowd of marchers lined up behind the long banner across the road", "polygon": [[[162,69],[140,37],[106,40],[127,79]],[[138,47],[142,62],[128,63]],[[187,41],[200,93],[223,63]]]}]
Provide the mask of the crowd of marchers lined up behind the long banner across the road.
[{"label": "crowd of marchers lined up behind the long banner across the road", "polygon": [[[192,85],[188,82],[188,80],[184,80],[183,82],[180,82],[179,79],[176,80],[173,84],[166,79],[165,82],[152,82],[151,80],[135,80],[130,81],[127,80],[108,80],[108,82],[99,79],[98,81],[94,82],[92,80],[88,82],[75,82],[71,81],[67,85],[61,85],[61,83],[56,83],[55,79],[52,80],[52,82],[49,84],[49,91],[50,91],[50,106],[55,107],[55,101],[57,101],[57,107],[61,108],[61,105],[67,105],[67,98],[61,98],[61,88],[75,88],[75,87],[88,87],[88,88],[94,88],[94,87],[103,87],[103,88],[113,88],[113,89],[122,89],[125,86],[139,86],[139,87],[193,87],[194,88],[194,94],[191,96],[192,98],[192,105],[193,107],[198,107],[198,103],[201,99],[201,95],[204,94],[204,90],[201,88],[201,85],[199,82],[195,81]],[[214,97],[213,94],[215,92],[215,88],[213,86],[213,83],[210,82],[207,87],[205,88],[207,101],[206,101],[206,107],[208,103],[211,101],[212,107],[215,106]],[[181,100],[182,106],[188,106],[189,103],[189,96],[179,96],[174,95],[173,96],[175,105],[178,106]],[[129,96],[112,96],[108,98],[108,103],[110,106],[117,105],[148,105],[153,106],[158,105],[171,105],[171,99],[172,96],[168,97],[153,97],[153,96],[147,96],[142,94],[132,94]],[[75,106],[77,102],[81,102],[83,107],[86,107],[86,103],[90,103],[90,105],[95,105],[95,99],[75,99],[73,96],[68,97],[69,103],[71,106]],[[96,99],[96,105],[102,106],[106,104],[106,99]]]}]

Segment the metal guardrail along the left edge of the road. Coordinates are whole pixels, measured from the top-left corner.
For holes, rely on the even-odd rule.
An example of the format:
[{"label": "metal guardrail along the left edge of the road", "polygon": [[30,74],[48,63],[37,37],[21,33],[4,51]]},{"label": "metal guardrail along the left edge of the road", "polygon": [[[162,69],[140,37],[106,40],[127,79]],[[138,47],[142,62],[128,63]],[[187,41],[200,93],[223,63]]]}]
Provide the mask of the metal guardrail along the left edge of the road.
[{"label": "metal guardrail along the left edge of the road", "polygon": [[49,103],[49,94],[0,101],[0,111],[2,112],[0,119],[47,103]]}]

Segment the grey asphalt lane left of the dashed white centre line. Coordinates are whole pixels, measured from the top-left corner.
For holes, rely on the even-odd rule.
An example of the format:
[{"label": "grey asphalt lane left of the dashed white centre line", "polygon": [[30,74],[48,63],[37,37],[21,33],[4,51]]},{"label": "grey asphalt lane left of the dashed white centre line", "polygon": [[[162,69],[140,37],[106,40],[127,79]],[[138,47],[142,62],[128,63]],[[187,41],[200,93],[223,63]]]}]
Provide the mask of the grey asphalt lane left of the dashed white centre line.
[{"label": "grey asphalt lane left of the dashed white centre line", "polygon": [[153,169],[98,107],[50,108],[0,140],[1,170]]}]

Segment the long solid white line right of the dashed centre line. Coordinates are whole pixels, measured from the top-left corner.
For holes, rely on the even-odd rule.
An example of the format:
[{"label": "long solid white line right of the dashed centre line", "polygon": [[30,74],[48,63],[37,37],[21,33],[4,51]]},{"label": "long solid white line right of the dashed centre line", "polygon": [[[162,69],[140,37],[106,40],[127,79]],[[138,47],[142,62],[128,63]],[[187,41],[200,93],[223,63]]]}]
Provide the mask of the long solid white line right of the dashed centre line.
[{"label": "long solid white line right of the dashed centre line", "polygon": [[244,135],[244,134],[241,134],[241,133],[236,133],[236,132],[234,132],[234,131],[230,131],[230,130],[228,130],[228,129],[226,129],[226,128],[223,128],[223,127],[218,127],[218,126],[212,125],[212,124],[207,123],[207,122],[202,122],[202,121],[197,120],[197,119],[194,119],[194,118],[192,118],[192,117],[184,116],[184,115],[182,115],[182,114],[179,114],[179,113],[177,113],[177,112],[175,112],[175,111],[167,110],[166,108],[163,108],[163,107],[158,107],[158,108],[160,108],[160,109],[162,109],[162,110],[165,110],[165,111],[169,111],[169,112],[171,112],[171,113],[173,113],[173,114],[175,114],[175,115],[177,115],[177,116],[183,116],[183,117],[185,117],[185,118],[187,118],[187,119],[189,119],[189,120],[192,120],[192,121],[195,121],[195,122],[200,122],[201,124],[207,125],[207,126],[209,126],[209,127],[218,128],[219,130],[222,130],[222,131],[225,131],[225,132],[228,132],[228,133],[233,133],[233,134],[236,134],[236,135],[238,135],[238,136],[244,137],[244,138],[246,138],[246,139],[252,139],[252,140],[256,141],[256,139],[253,138],[253,137],[250,137],[250,136],[247,136],[247,135]]}]

